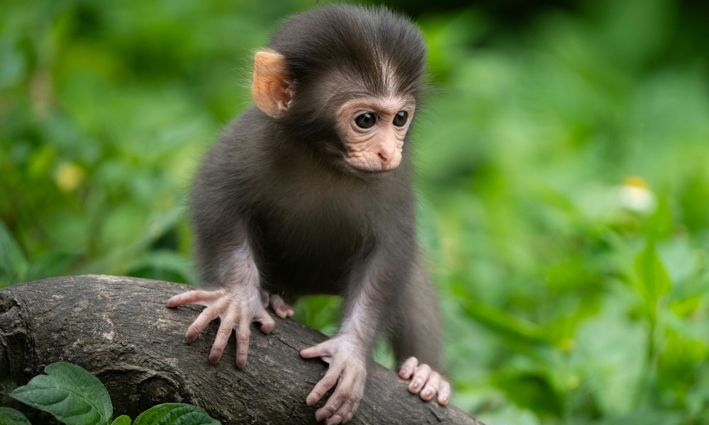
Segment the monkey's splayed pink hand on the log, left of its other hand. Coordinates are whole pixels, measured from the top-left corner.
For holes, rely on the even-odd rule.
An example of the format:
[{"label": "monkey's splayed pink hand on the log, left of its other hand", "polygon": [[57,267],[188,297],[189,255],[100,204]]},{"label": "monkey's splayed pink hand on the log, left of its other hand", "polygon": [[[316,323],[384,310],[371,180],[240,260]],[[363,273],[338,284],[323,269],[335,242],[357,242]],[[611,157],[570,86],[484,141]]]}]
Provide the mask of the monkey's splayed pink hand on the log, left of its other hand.
[{"label": "monkey's splayed pink hand on the log, left of its other hand", "polygon": [[[265,307],[277,306],[278,310],[292,315],[293,307],[286,305],[281,297],[262,292],[256,285],[231,285],[218,290],[191,290],[187,293],[175,295],[167,301],[167,307],[177,307],[179,305],[198,304],[207,308],[202,310],[199,317],[187,329],[184,334],[188,343],[194,341],[200,332],[213,319],[219,317],[220,324],[214,344],[209,353],[209,363],[215,364],[221,358],[226,347],[231,332],[236,330],[236,365],[244,368],[246,358],[249,353],[249,336],[252,322],[261,324],[261,331],[268,334],[272,331],[274,319],[266,312]],[[290,310],[289,310],[290,309]],[[288,314],[290,312],[290,314]],[[279,317],[281,314],[278,314]]]}]

